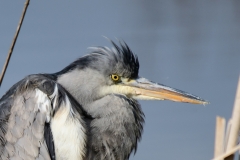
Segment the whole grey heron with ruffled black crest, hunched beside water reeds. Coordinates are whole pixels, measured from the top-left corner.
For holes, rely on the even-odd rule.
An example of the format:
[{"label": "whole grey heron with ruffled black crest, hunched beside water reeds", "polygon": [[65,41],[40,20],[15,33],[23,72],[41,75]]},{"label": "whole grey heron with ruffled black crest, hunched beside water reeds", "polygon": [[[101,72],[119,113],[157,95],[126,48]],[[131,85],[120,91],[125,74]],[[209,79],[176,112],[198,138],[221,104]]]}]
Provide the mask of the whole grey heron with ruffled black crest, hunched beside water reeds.
[{"label": "whole grey heron with ruffled black crest, hunched beside water reeds", "polygon": [[207,103],[140,77],[128,45],[112,44],[54,74],[29,75],[3,95],[0,159],[127,160],[143,131],[138,99]]}]

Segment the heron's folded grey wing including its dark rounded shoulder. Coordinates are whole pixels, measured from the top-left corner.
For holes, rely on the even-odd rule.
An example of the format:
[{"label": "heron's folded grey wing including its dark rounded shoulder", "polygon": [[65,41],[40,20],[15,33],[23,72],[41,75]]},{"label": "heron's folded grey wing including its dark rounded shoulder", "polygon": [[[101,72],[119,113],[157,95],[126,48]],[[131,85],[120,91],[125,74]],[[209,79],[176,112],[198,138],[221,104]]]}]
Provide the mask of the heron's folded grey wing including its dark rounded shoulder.
[{"label": "heron's folded grey wing including its dark rounded shoulder", "polygon": [[[52,96],[56,86],[45,75],[31,75],[0,99],[0,160],[55,159],[51,129],[46,124],[68,95],[59,86],[58,96]],[[71,97],[70,101],[75,103]],[[77,104],[73,105],[76,110]]]}]

